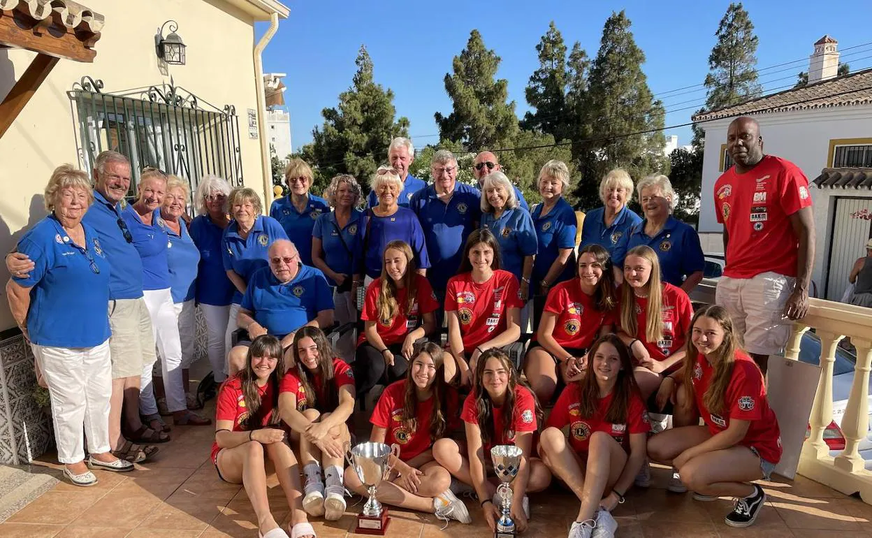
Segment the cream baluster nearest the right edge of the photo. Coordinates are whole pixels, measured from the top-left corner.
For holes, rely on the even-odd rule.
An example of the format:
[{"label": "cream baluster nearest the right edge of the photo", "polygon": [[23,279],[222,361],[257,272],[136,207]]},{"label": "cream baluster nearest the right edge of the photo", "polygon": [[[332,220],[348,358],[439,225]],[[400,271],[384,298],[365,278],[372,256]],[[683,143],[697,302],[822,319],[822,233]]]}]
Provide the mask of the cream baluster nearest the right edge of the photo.
[{"label": "cream baluster nearest the right edge of the photo", "polygon": [[854,383],[848,397],[848,407],[841,419],[841,432],[845,435],[845,450],[835,457],[835,466],[857,473],[865,467],[860,456],[860,440],[869,431],[869,364],[872,363],[872,340],[851,337],[857,350]]}]

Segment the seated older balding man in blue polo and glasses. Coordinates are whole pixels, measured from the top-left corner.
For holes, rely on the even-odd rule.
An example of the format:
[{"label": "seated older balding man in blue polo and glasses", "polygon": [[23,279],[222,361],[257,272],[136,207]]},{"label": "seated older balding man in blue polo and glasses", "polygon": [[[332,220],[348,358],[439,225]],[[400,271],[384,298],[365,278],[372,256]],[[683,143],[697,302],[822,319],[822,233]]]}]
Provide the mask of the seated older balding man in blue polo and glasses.
[{"label": "seated older balding man in blue polo and glasses", "polygon": [[[269,247],[269,267],[257,269],[242,296],[236,324],[254,339],[271,334],[290,349],[303,325],[322,330],[333,324],[333,291],[320,269],[303,265],[294,243],[279,239]],[[230,375],[245,367],[246,345],[230,351]]]}]

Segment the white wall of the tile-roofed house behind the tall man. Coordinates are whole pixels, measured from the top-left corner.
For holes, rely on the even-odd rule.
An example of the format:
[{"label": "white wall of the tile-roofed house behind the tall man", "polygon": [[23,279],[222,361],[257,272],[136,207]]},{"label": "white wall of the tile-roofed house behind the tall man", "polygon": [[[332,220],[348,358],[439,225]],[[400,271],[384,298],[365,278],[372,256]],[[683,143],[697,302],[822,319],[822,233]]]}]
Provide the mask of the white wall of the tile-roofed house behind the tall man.
[{"label": "white wall of the tile-roofed house behind the tall man", "polygon": [[[763,151],[794,162],[809,182],[828,167],[829,141],[834,139],[872,138],[872,106],[843,106],[825,110],[758,114],[763,136]],[[721,145],[726,144],[726,129],[732,119],[719,119],[703,124],[705,154],[703,159],[702,207],[699,212],[700,232],[720,232],[714,213],[714,183],[720,176]],[[872,191],[845,189],[811,189],[814,201],[815,242],[812,279],[820,291],[827,278],[829,234],[833,221],[836,196],[872,198]],[[862,253],[861,253],[862,254]]]}]

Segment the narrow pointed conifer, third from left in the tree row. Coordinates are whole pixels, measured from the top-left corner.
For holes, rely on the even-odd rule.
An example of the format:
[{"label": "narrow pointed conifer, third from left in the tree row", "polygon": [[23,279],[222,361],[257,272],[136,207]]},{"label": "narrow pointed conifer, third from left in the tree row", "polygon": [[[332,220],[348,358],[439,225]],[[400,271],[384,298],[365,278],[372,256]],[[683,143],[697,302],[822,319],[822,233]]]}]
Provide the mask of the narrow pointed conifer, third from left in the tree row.
[{"label": "narrow pointed conifer, third from left in the tree row", "polygon": [[566,44],[560,31],[551,21],[548,31],[536,45],[539,53],[539,69],[530,76],[524,91],[529,106],[535,112],[527,112],[521,128],[539,133],[548,133],[555,140],[567,136],[566,125]]}]

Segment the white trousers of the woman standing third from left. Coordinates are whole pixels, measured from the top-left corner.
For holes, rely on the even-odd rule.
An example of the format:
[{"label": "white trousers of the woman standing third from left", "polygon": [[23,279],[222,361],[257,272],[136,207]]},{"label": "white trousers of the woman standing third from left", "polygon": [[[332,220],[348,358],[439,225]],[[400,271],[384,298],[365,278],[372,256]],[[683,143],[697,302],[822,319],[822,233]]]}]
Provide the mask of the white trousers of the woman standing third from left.
[{"label": "white trousers of the woman standing third from left", "polygon": [[[167,410],[183,411],[187,409],[187,402],[181,378],[181,337],[175,317],[173,295],[169,288],[146,289],[143,295],[148,315],[152,318],[154,343],[157,344],[160,372],[164,380],[164,392],[167,394]],[[152,386],[152,368],[153,364],[143,365],[140,379],[140,412],[144,415],[158,412]]]}]

